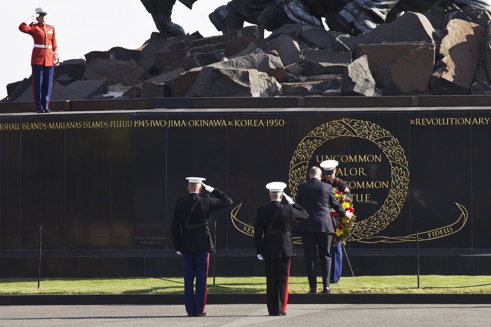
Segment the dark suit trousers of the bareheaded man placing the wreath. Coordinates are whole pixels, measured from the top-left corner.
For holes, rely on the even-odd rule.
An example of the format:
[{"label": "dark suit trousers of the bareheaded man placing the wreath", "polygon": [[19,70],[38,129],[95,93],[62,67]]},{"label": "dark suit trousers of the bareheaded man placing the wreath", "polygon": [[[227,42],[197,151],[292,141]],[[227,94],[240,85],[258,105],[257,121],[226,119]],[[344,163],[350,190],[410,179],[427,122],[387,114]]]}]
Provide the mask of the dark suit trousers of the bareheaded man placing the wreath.
[{"label": "dark suit trousers of the bareheaded man placing the wreath", "polygon": [[302,232],[301,233],[303,253],[305,257],[305,268],[307,271],[308,284],[310,288],[317,288],[317,251],[321,261],[322,286],[329,287],[331,275],[331,241],[332,233],[326,232]]}]

